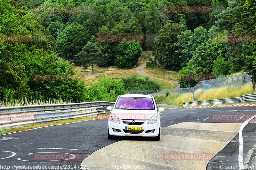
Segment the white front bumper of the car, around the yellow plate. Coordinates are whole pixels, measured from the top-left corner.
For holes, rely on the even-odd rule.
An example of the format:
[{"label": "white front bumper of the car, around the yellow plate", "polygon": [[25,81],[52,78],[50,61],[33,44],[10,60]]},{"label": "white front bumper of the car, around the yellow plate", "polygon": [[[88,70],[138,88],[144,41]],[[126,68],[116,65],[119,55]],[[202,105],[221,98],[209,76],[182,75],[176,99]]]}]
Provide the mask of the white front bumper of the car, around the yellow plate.
[{"label": "white front bumper of the car, around the yellow plate", "polygon": [[[142,137],[156,137],[159,133],[159,128],[160,128],[160,120],[158,120],[156,123],[152,124],[147,124],[148,121],[144,122],[142,125],[128,125],[124,124],[122,121],[120,124],[112,122],[111,120],[108,121],[108,133],[110,135],[114,136],[142,136]],[[125,132],[124,129],[125,127],[141,127],[143,130],[141,133],[129,133],[132,132]],[[118,129],[121,132],[114,132],[113,129]],[[155,129],[155,130],[154,130]],[[147,130],[154,130],[154,133],[147,132]]]}]

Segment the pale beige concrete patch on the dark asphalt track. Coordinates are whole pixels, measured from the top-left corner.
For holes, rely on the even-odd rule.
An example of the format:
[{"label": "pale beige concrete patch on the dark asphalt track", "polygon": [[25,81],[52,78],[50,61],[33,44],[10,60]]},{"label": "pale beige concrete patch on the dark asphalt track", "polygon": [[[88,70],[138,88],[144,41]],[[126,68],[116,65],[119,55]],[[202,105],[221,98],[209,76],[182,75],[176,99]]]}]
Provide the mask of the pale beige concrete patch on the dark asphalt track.
[{"label": "pale beige concrete patch on the dark asphalt track", "polygon": [[[204,170],[209,160],[164,159],[164,153],[202,153],[215,156],[232,140],[242,123],[182,122],[161,129],[160,141],[122,140],[93,152],[83,160],[89,169]],[[127,166],[122,166],[127,165]],[[133,167],[134,166],[134,167]]]}]

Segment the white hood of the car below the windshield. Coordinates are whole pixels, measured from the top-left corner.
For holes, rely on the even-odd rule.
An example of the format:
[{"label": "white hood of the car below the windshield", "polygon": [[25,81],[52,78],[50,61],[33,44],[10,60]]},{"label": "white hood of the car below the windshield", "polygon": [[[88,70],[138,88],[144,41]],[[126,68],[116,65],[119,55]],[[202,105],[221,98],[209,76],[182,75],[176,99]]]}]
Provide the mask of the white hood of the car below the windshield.
[{"label": "white hood of the car below the windshield", "polygon": [[156,115],[156,110],[124,110],[114,109],[112,114],[122,120],[146,120]]}]

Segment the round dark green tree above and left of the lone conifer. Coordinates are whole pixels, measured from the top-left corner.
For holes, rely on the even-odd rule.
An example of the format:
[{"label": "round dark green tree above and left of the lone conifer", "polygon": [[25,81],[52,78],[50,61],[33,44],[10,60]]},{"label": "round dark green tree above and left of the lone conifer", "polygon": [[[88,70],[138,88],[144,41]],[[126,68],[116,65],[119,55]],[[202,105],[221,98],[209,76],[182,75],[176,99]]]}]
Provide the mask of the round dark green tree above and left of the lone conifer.
[{"label": "round dark green tree above and left of the lone conifer", "polygon": [[87,29],[74,22],[59,33],[56,39],[56,49],[67,60],[74,59],[74,56],[81,51],[87,41]]}]

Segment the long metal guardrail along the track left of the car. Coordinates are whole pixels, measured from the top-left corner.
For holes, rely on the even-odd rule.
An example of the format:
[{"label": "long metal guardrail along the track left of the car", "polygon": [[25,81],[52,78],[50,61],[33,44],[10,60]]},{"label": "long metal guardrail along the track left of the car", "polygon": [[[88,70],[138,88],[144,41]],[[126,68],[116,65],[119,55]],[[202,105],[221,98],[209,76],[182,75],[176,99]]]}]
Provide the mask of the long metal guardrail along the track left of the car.
[{"label": "long metal guardrail along the track left of the car", "polygon": [[94,101],[84,103],[31,105],[0,108],[0,129],[10,129],[62,119],[92,117],[110,113],[106,108],[114,102]]}]

